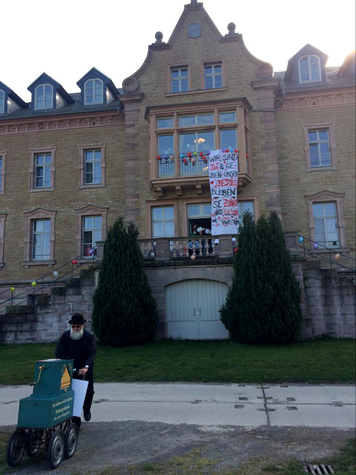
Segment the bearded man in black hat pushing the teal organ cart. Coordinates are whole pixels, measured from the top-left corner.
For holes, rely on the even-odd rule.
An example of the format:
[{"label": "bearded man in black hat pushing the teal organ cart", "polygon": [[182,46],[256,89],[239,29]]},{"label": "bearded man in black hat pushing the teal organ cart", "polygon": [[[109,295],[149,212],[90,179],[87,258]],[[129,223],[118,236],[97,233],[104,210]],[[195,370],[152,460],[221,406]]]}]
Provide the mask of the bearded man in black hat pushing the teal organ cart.
[{"label": "bearded man in black hat pushing the teal organ cart", "polygon": [[[74,359],[73,378],[85,379],[88,381],[86,395],[83,404],[83,415],[85,421],[90,421],[94,396],[94,358],[97,354],[97,344],[93,333],[85,330],[84,317],[76,313],[69,320],[70,329],[65,331],[55,349],[55,357],[61,359]],[[73,417],[74,422],[80,427],[80,417]]]}]

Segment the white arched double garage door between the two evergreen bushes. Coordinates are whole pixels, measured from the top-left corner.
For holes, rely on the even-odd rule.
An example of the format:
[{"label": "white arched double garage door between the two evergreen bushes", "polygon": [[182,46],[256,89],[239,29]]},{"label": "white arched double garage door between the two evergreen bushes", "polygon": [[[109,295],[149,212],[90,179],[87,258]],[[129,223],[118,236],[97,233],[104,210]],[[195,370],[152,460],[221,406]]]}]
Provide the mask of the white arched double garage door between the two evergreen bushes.
[{"label": "white arched double garage door between the two evergreen bushes", "polygon": [[165,289],[168,338],[210,340],[229,338],[220,321],[227,285],[194,279],[171,284]]}]

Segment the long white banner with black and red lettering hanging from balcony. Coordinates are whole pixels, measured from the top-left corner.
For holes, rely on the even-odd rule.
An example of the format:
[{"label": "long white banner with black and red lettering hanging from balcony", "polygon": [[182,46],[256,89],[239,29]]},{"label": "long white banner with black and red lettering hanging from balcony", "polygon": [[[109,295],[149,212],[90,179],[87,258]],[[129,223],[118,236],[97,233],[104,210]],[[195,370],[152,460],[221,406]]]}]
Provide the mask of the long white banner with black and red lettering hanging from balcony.
[{"label": "long white banner with black and red lettering hanging from balcony", "polygon": [[239,154],[230,149],[208,155],[212,195],[212,235],[236,234],[239,230]]}]

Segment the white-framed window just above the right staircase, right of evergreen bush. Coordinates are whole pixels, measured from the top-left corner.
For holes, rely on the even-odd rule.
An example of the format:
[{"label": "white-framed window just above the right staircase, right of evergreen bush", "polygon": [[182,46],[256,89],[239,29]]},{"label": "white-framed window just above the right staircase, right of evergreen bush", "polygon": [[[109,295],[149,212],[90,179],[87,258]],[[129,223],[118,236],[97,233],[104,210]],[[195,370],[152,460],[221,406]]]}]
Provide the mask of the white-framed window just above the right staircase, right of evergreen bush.
[{"label": "white-framed window just above the right staircase, right of evergreen bush", "polygon": [[335,202],[313,203],[315,241],[326,247],[339,246],[337,208]]}]

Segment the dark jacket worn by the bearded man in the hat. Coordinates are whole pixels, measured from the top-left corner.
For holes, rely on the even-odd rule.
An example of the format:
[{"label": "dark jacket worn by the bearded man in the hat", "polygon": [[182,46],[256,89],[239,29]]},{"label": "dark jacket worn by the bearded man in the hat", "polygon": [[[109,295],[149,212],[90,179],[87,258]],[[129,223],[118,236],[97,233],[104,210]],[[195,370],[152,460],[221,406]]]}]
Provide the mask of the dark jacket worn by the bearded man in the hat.
[{"label": "dark jacket worn by the bearded man in the hat", "polygon": [[80,340],[70,338],[70,330],[65,331],[55,349],[56,358],[74,359],[74,368],[78,371],[88,365],[88,373],[93,372],[97,344],[93,333],[85,330]]}]

